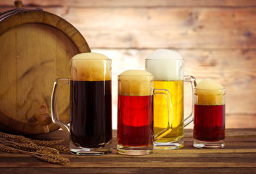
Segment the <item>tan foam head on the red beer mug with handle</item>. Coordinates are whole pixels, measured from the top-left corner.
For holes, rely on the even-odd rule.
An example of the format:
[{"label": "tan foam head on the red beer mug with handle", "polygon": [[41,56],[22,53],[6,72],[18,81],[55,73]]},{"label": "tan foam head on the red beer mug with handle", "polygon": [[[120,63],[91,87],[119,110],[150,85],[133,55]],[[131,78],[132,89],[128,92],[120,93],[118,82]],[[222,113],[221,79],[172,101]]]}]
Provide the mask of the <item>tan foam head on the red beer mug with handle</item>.
[{"label": "tan foam head on the red beer mug with handle", "polygon": [[145,70],[127,70],[118,75],[118,94],[122,96],[152,95],[153,80],[153,75]]}]

